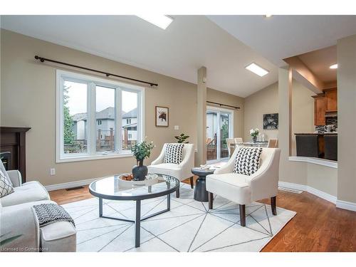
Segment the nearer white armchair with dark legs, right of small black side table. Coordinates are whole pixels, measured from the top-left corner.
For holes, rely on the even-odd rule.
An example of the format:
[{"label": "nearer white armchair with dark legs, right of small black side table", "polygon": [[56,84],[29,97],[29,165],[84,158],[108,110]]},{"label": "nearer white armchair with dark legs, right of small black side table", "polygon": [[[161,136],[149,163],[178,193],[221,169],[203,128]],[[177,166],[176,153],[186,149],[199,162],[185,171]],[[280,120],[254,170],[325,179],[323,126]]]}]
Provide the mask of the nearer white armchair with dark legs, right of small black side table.
[{"label": "nearer white armchair with dark legs, right of small black side table", "polygon": [[246,226],[246,204],[252,201],[271,198],[273,215],[276,211],[278,194],[278,168],[281,150],[278,148],[262,148],[260,167],[251,176],[233,172],[236,154],[223,167],[216,169],[214,174],[206,176],[206,190],[209,192],[209,209],[213,209],[213,194],[239,204],[240,224]]}]

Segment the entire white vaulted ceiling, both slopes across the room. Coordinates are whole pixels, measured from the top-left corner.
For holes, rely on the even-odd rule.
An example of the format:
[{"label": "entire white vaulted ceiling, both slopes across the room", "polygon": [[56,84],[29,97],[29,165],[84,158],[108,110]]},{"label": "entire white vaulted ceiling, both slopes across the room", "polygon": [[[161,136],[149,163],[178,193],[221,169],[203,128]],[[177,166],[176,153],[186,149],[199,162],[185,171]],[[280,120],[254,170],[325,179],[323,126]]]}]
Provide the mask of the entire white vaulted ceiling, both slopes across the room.
[{"label": "entire white vaulted ceiling, both slopes across the room", "polygon": [[[172,17],[166,30],[137,16],[1,16],[1,28],[191,83],[206,66],[210,88],[241,97],[275,83],[283,58],[356,34],[356,16]],[[270,73],[249,72],[252,62]]]}]

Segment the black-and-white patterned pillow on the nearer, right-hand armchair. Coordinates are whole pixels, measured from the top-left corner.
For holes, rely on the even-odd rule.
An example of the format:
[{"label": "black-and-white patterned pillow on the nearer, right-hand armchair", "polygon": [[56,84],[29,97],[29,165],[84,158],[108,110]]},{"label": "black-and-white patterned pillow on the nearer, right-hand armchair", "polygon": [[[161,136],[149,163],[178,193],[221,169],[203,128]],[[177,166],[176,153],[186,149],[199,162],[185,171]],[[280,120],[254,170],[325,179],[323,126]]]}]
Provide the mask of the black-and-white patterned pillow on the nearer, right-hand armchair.
[{"label": "black-and-white patterned pillow on the nearer, right-hand armchair", "polygon": [[233,172],[251,175],[257,172],[261,160],[261,147],[241,147],[236,154]]}]

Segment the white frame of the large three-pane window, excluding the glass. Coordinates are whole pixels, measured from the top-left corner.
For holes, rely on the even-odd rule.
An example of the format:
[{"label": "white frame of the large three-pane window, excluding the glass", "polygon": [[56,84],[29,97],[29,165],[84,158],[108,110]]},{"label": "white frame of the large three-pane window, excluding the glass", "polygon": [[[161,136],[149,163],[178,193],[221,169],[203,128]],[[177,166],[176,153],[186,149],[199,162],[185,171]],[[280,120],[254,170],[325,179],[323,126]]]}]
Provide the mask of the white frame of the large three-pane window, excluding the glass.
[{"label": "white frame of the large three-pane window, excluding the glass", "polygon": [[[87,152],[64,153],[63,140],[63,80],[87,84]],[[97,152],[95,145],[95,86],[104,86],[115,90],[115,151]],[[107,80],[93,75],[56,70],[56,162],[74,162],[92,159],[108,159],[115,157],[132,157],[130,150],[122,150],[122,91],[137,93],[137,142],[145,137],[145,87]]]}]

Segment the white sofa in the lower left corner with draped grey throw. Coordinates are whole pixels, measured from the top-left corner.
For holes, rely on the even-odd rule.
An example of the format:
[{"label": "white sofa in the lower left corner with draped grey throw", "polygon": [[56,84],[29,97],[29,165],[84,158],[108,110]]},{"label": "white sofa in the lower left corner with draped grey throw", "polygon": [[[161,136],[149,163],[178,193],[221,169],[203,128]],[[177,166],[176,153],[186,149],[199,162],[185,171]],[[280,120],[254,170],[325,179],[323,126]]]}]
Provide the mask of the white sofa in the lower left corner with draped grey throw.
[{"label": "white sofa in the lower left corner with draped grey throw", "polygon": [[1,240],[19,236],[1,246],[0,251],[75,251],[76,231],[73,224],[60,221],[39,227],[33,205],[53,203],[39,182],[21,184],[19,171],[8,171],[14,193],[0,198]]}]

